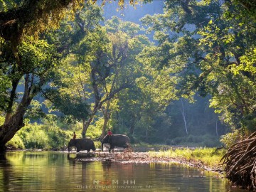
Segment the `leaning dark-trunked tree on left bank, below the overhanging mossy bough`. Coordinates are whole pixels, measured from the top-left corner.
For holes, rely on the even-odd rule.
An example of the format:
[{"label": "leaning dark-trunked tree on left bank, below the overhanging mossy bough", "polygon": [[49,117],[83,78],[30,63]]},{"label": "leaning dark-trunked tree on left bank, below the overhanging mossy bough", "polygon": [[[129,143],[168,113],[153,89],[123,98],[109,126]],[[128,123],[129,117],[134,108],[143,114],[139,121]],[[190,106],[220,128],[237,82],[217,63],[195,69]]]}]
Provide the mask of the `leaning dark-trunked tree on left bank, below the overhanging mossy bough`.
[{"label": "leaning dark-trunked tree on left bank, below the overhanging mossy bough", "polygon": [[[9,43],[1,41],[1,77],[6,85],[11,85],[10,91],[4,95],[6,105],[1,105],[1,110],[6,112],[5,122],[0,127],[1,150],[14,134],[23,127],[23,115],[33,97],[46,83],[50,69],[56,64],[55,49],[46,41],[36,41],[32,37],[26,38],[18,46],[18,60],[12,57],[13,53]],[[9,54],[9,57],[6,55]],[[18,83],[23,80],[23,93],[17,95]],[[17,102],[17,103],[16,103]]]}]

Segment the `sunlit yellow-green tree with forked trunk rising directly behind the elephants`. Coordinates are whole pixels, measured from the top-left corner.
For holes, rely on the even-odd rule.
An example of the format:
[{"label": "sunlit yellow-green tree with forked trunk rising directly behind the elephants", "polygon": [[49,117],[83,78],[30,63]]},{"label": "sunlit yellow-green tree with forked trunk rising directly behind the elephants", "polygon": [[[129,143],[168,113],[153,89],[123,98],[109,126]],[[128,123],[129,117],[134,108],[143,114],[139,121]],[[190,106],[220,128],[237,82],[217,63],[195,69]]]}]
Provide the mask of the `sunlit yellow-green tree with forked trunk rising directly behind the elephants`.
[{"label": "sunlit yellow-green tree with forked trunk rising directly behind the elephants", "polygon": [[[116,25],[117,30],[113,31],[111,25]],[[129,25],[114,17],[106,22],[106,28],[92,28],[72,48],[73,53],[63,59],[63,67],[60,68],[59,75],[55,75],[55,84],[52,84],[55,92],[59,90],[59,95],[65,92],[70,98],[76,95],[75,97],[90,105],[89,116],[81,118],[83,137],[100,110],[104,117],[101,137],[104,136],[114,97],[118,92],[134,85],[136,75],[133,75],[133,69],[139,65],[136,55],[149,41],[145,36],[136,34],[139,31],[138,25],[127,26]],[[122,28],[122,31],[118,28]],[[49,93],[46,92],[46,95]],[[53,99],[49,95],[48,98],[55,107],[61,105],[58,105],[59,97]]]}]

